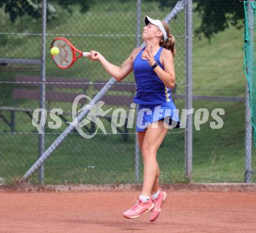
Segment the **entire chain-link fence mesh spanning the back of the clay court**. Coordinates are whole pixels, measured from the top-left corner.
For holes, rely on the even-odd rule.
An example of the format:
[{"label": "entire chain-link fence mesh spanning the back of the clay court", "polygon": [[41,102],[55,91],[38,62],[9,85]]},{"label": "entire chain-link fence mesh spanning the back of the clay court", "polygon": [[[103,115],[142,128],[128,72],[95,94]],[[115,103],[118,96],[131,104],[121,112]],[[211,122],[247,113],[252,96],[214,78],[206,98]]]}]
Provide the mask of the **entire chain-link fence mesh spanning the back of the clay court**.
[{"label": "entire chain-link fence mesh spanning the back of the clay court", "polygon": [[[9,5],[3,1],[0,4],[3,19],[0,27],[2,184],[13,183],[22,177],[37,161],[40,151],[47,150],[67,128],[69,124],[66,122],[73,121],[72,104],[76,96],[86,94],[93,99],[111,78],[99,63],[88,59],[77,60],[67,70],[59,69],[49,53],[52,39],[67,38],[78,49],[96,50],[111,63],[121,65],[131,51],[143,43],[141,32],[145,14],[153,19],[165,19],[175,6],[164,6],[164,1],[48,1],[44,101],[47,121],[42,139],[42,134],[38,134],[34,126],[38,122],[33,120],[34,110],[40,108],[43,84],[42,3],[31,1],[27,5],[15,5],[10,2]],[[180,10],[169,22],[177,50],[176,88],[172,94],[180,110],[185,106],[186,91],[185,21],[184,10]],[[197,13],[193,21],[196,30],[200,24]],[[211,41],[194,37],[193,108],[194,112],[206,108],[210,117],[207,123],[200,125],[200,130],[194,127],[192,180],[195,182],[244,181],[245,79],[242,45],[243,30],[234,27],[220,32]],[[113,133],[111,125],[111,116],[116,108],[124,108],[128,115],[135,90],[133,74],[112,86],[102,97],[105,102],[102,108],[105,111],[112,108],[100,118],[106,134],[99,129],[93,139],[84,139],[77,130],[73,130],[44,163],[44,183],[141,182],[143,163],[138,155],[135,124],[131,129],[117,127],[117,134]],[[78,108],[84,104],[86,100],[83,99]],[[59,115],[61,127],[54,129],[51,126],[56,122],[52,119],[54,114],[51,110],[55,108],[61,108],[63,115]],[[216,116],[211,116],[216,108],[225,110],[225,115],[217,114],[223,119],[221,129],[212,129],[209,123],[216,122]],[[89,123],[83,131],[92,134],[95,125]],[[40,141],[45,141],[45,145],[42,146]],[[184,129],[169,130],[158,150],[161,183],[187,181],[184,175],[184,145]],[[254,168],[255,163],[253,158]],[[253,178],[255,180],[255,176]],[[32,176],[31,181],[37,183],[37,176]]]}]

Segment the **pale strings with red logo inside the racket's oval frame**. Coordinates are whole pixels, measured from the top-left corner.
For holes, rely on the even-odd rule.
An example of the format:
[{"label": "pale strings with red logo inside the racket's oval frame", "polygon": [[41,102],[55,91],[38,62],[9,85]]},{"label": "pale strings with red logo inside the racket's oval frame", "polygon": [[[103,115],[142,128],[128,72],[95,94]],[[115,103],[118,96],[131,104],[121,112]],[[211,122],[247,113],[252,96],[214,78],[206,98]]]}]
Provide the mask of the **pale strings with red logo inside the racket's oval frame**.
[{"label": "pale strings with red logo inside the racket's oval frame", "polygon": [[62,67],[69,66],[73,61],[73,50],[69,44],[62,39],[57,39],[52,46],[59,49],[59,54],[55,55],[53,58],[55,63]]}]

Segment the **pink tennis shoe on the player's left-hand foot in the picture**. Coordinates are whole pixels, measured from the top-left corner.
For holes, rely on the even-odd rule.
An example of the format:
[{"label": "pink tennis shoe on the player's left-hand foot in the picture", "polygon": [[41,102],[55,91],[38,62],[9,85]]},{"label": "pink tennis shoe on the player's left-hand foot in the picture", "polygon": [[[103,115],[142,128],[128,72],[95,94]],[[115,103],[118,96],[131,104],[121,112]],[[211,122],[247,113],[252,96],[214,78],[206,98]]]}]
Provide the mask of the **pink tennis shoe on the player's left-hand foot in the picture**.
[{"label": "pink tennis shoe on the player's left-hand foot in the picture", "polygon": [[144,213],[150,212],[154,208],[154,203],[151,199],[148,202],[143,202],[141,199],[136,199],[136,203],[134,206],[131,206],[129,210],[123,213],[123,217],[127,219],[135,219],[136,217],[140,217]]}]

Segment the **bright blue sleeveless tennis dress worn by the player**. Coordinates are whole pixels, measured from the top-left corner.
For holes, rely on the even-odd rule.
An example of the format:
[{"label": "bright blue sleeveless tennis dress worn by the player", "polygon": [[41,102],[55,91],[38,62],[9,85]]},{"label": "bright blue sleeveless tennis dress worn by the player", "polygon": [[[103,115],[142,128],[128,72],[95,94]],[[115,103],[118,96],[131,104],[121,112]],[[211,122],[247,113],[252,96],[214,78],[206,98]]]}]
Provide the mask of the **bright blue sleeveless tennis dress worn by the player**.
[{"label": "bright blue sleeveless tennis dress worn by the player", "polygon": [[[173,103],[170,89],[158,78],[148,60],[141,58],[143,50],[137,54],[133,71],[136,80],[137,92],[134,103],[139,104],[136,130],[143,132],[152,122],[164,121],[170,127],[180,128],[179,114]],[[163,47],[160,47],[154,59],[163,69],[160,62],[160,55]]]}]

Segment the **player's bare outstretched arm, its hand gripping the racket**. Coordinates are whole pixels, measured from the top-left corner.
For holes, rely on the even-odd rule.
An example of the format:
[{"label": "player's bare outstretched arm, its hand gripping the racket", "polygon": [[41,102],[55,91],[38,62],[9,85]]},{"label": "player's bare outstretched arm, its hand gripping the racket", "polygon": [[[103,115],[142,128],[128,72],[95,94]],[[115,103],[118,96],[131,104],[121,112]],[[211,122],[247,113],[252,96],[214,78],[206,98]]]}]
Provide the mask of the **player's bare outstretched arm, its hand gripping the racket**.
[{"label": "player's bare outstretched arm, its hand gripping the racket", "polygon": [[[105,68],[106,72],[108,72],[113,78],[115,78],[116,81],[121,81],[127,75],[129,75],[130,72],[133,70],[132,57],[134,54],[134,50],[133,52],[131,52],[130,56],[123,62],[121,67],[111,64],[108,60],[105,59],[104,56],[102,56],[102,54],[95,52],[94,50],[91,50],[91,53],[88,56],[88,59],[92,61],[100,61],[102,66]],[[94,53],[97,53],[97,56],[94,56],[93,55]]]}]

